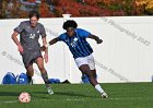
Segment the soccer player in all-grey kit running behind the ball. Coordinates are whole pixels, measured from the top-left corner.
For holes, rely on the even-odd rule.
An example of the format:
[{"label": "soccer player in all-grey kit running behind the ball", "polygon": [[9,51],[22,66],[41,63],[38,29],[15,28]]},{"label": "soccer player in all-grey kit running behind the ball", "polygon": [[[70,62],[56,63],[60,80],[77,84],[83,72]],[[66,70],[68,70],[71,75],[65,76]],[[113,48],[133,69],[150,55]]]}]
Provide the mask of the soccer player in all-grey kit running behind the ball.
[{"label": "soccer player in all-grey kit running behind the ball", "polygon": [[[43,45],[46,45],[46,32],[44,25],[38,23],[39,13],[37,11],[31,11],[28,14],[30,21],[21,22],[17,27],[14,28],[12,34],[12,39],[17,46],[23,63],[26,69],[26,74],[30,83],[32,82],[32,76],[34,75],[33,63],[35,62],[42,73],[42,77],[46,84],[46,88],[49,94],[54,94],[49,82],[48,74],[44,68],[45,62],[48,62],[48,49],[46,48],[44,58],[40,52],[40,45],[38,43],[39,37],[42,36]],[[20,40],[17,36],[20,34]]]}]

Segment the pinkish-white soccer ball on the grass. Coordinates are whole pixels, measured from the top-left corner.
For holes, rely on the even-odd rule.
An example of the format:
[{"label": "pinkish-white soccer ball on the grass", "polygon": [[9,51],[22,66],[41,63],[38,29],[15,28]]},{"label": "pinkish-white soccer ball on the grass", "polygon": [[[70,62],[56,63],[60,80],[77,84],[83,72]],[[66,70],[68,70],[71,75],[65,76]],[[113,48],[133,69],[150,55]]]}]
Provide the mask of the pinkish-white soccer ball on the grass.
[{"label": "pinkish-white soccer ball on the grass", "polygon": [[31,95],[26,92],[23,92],[19,96],[19,101],[20,103],[30,103],[31,101]]}]

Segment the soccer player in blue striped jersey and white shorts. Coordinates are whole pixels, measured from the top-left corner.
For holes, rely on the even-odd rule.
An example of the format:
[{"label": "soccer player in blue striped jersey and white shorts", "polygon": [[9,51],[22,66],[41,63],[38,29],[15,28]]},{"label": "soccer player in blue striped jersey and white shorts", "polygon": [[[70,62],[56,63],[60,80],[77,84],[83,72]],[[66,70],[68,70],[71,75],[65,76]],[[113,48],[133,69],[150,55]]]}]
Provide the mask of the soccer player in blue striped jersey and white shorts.
[{"label": "soccer player in blue striped jersey and white shorts", "polygon": [[97,92],[99,92],[101,96],[103,98],[107,98],[108,95],[104,92],[96,80],[95,61],[92,56],[93,49],[86,41],[86,38],[94,39],[97,44],[102,44],[103,40],[85,29],[76,28],[78,24],[73,20],[64,22],[62,27],[67,32],[51,39],[49,44],[42,47],[42,50],[47,49],[49,45],[54,45],[57,41],[66,43],[73,55],[79,70],[82,72],[82,74],[85,74],[89,77],[90,83]]}]

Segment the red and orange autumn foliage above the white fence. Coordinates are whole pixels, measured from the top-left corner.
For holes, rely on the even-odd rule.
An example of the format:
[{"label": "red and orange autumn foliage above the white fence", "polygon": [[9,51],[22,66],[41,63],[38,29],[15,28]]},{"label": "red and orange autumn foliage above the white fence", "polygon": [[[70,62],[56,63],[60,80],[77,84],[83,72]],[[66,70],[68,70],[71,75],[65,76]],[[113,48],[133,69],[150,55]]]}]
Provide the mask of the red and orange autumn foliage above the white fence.
[{"label": "red and orange autumn foliage above the white fence", "polygon": [[153,0],[0,0],[0,19],[27,17],[32,10],[42,17],[152,15]]}]

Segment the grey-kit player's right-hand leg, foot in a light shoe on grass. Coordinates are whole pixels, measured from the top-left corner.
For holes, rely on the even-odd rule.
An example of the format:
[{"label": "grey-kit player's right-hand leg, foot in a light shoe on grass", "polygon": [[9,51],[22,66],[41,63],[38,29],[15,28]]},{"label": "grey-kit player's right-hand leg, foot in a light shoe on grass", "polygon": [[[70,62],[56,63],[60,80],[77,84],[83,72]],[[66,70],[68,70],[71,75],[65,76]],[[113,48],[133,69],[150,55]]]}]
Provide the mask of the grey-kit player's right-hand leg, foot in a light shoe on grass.
[{"label": "grey-kit player's right-hand leg, foot in a light shoe on grass", "polygon": [[46,71],[46,69],[44,68],[44,59],[43,59],[42,57],[38,57],[38,58],[36,59],[36,63],[37,63],[38,69],[39,69],[39,71],[40,71],[40,73],[42,73],[42,77],[43,77],[43,80],[44,80],[44,82],[45,82],[45,84],[46,84],[46,88],[47,88],[48,93],[49,93],[50,95],[54,94],[54,92],[52,92],[52,89],[51,89],[51,87],[50,87],[50,85],[49,85],[49,82],[48,82],[48,74],[47,74],[47,71]]}]

